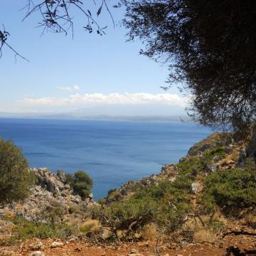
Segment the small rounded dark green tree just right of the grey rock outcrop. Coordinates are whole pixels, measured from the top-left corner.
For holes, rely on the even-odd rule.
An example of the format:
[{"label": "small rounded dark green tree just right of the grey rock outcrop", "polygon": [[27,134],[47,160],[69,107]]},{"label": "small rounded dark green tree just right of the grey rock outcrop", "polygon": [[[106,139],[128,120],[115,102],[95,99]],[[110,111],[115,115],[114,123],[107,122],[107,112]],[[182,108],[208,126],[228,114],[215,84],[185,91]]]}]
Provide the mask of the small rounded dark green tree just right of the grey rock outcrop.
[{"label": "small rounded dark green tree just right of the grey rock outcrop", "polygon": [[85,171],[77,171],[73,176],[73,189],[82,198],[89,196],[92,183],[92,178]]}]

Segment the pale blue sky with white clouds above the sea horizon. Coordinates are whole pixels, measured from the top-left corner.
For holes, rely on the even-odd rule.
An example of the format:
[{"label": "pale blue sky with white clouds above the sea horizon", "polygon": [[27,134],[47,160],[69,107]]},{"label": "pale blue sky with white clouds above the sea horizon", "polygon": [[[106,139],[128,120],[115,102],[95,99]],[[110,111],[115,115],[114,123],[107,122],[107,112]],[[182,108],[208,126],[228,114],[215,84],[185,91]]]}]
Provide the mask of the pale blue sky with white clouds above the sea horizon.
[{"label": "pale blue sky with white clouds above the sea horizon", "polygon": [[[38,1],[35,0],[34,3]],[[108,1],[109,6],[116,4]],[[120,26],[124,9],[105,9],[97,20],[106,35],[87,33],[85,18],[74,15],[74,38],[36,28],[40,14],[26,14],[26,0],[1,0],[0,23],[9,44],[29,62],[3,48],[0,59],[0,112],[79,113],[80,115],[183,114],[188,96],[174,86],[164,91],[168,67],[143,55],[141,41],[127,42]],[[97,9],[90,6],[92,13]]]}]

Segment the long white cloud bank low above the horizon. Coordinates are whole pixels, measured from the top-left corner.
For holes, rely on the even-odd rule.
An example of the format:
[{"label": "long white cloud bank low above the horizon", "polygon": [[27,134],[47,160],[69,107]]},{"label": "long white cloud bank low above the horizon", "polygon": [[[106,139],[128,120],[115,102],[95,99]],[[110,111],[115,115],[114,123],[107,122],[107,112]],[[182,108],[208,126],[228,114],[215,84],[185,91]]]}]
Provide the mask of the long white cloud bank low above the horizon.
[{"label": "long white cloud bank low above the horizon", "polygon": [[81,95],[76,93],[68,97],[25,97],[21,103],[27,107],[82,107],[95,105],[169,105],[174,107],[186,107],[189,97],[181,97],[176,94],[149,94],[117,92],[103,95],[92,93]]}]

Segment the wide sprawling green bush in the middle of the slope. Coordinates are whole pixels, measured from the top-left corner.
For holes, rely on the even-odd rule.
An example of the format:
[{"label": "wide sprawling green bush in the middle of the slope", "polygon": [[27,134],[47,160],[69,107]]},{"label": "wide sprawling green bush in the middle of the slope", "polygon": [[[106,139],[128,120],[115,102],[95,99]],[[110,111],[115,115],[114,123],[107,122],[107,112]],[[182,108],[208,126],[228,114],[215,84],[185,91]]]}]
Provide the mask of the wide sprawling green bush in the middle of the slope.
[{"label": "wide sprawling green bush in the middle of the slope", "polygon": [[142,228],[148,223],[156,223],[159,230],[169,233],[176,230],[183,218],[193,209],[191,198],[183,188],[177,188],[171,181],[138,188],[124,201],[110,203],[109,206],[97,207],[92,216],[108,225],[113,233]]}]

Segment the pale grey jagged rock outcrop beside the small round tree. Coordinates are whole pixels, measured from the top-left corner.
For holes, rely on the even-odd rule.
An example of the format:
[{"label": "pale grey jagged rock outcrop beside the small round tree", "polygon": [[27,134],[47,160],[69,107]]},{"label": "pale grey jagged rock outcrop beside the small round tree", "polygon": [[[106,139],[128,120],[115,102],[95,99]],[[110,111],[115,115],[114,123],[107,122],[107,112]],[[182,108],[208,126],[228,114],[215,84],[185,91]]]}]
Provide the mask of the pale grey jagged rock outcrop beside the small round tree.
[{"label": "pale grey jagged rock outcrop beside the small round tree", "polygon": [[57,174],[47,168],[33,168],[30,171],[36,176],[31,196],[23,203],[13,203],[0,209],[0,216],[22,215],[27,220],[38,221],[48,218],[49,213],[58,208],[61,218],[68,219],[74,211],[78,212],[94,203],[92,194],[85,200],[75,195],[64,171]]}]

